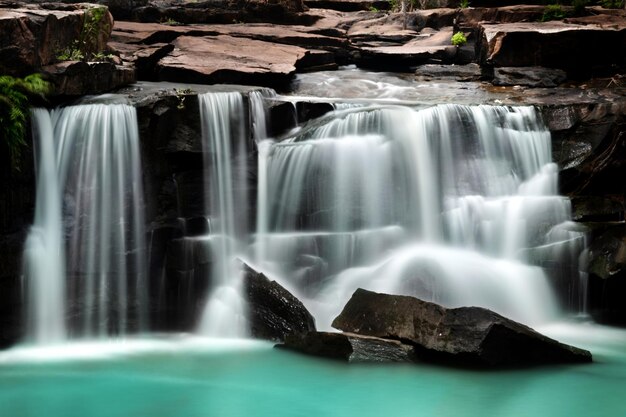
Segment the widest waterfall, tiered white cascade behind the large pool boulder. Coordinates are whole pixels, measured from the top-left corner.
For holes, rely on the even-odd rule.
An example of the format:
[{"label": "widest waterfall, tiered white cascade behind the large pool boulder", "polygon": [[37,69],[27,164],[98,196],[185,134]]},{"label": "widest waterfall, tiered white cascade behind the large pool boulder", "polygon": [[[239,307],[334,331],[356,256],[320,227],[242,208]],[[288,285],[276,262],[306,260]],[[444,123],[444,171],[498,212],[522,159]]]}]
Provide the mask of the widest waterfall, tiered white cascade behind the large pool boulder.
[{"label": "widest waterfall, tiered white cascade behind the large pool boulder", "polygon": [[570,215],[550,146],[531,107],[336,110],[260,146],[257,263],[322,328],[357,287],[545,322],[528,250],[562,246],[546,234]]}]

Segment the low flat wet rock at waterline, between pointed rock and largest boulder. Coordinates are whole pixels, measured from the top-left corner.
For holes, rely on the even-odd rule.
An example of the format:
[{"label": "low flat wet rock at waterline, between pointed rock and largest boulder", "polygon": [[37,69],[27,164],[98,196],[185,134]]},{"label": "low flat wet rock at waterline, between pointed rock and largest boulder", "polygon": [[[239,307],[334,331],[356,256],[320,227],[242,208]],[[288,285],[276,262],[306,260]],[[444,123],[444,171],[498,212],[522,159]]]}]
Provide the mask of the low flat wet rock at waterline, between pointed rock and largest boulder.
[{"label": "low flat wet rock at waterline, between pointed rock and largest boulder", "polygon": [[354,333],[292,334],[277,347],[346,362],[413,362],[413,347],[397,340]]}]

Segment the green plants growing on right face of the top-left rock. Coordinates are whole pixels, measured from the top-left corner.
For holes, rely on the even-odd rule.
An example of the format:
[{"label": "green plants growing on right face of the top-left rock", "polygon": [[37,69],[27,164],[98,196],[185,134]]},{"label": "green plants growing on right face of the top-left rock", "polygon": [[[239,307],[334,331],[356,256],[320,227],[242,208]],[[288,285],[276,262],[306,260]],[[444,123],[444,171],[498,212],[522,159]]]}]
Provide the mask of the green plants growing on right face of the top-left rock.
[{"label": "green plants growing on right face of the top-left rock", "polygon": [[107,55],[98,50],[98,37],[102,19],[106,16],[106,12],[106,7],[87,9],[78,38],[74,39],[67,48],[58,51],[57,59],[59,61],[92,61],[94,57],[106,58]]}]

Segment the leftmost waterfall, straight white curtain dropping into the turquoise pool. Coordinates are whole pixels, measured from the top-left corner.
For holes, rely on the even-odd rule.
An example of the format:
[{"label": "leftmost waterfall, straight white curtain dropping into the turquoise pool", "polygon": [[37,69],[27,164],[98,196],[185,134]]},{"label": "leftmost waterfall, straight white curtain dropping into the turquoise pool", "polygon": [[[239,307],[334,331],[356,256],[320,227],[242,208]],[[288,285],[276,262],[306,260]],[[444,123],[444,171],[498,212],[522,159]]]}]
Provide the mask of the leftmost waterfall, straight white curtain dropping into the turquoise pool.
[{"label": "leftmost waterfall, straight white curtain dropping into the turquoise pool", "polygon": [[88,104],[35,110],[33,116],[39,182],[25,255],[29,338],[49,343],[66,334],[145,329],[145,225],[134,107]]}]

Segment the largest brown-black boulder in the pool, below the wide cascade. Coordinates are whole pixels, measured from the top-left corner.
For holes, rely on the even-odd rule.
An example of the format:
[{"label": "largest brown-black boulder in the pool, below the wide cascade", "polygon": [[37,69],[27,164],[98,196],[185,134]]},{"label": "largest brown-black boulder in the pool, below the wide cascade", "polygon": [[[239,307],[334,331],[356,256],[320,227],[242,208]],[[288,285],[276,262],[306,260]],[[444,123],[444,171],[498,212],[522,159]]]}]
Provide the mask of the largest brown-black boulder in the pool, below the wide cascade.
[{"label": "largest brown-black boulder in the pool, below the wide cascade", "polygon": [[445,308],[358,289],[333,327],[400,340],[424,361],[481,367],[590,362],[591,354],[480,307]]}]

